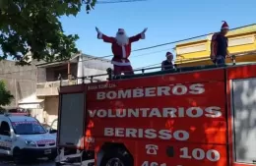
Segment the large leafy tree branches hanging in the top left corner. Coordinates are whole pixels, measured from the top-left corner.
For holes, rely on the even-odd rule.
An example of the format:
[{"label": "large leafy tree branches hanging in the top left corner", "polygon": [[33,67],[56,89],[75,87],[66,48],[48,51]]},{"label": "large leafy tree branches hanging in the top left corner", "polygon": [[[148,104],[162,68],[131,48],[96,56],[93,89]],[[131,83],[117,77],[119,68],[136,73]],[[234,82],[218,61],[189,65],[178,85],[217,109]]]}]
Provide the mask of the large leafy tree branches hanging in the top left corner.
[{"label": "large leafy tree branches hanging in the top left corner", "polygon": [[77,53],[77,34],[66,35],[61,16],[76,16],[96,0],[0,0],[0,60],[12,57],[25,65],[26,54],[46,62],[64,60]]}]

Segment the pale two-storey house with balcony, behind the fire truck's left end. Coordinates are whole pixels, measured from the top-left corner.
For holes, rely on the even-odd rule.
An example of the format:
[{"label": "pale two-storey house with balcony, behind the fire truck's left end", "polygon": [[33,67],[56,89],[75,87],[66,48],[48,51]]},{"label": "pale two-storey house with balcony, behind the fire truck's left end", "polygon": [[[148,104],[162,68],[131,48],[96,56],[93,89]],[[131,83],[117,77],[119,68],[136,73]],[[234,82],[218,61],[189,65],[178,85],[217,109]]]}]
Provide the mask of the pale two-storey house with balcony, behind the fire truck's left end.
[{"label": "pale two-storey house with balcony, behind the fire truck's left end", "polygon": [[[73,56],[69,61],[54,63],[38,63],[37,83],[35,97],[40,100],[35,113],[36,118],[50,125],[58,116],[58,88],[60,76],[62,85],[78,83],[75,77],[106,74],[106,69],[111,68],[109,60],[96,58],[90,55],[79,54]],[[105,81],[107,76],[97,77],[94,81]],[[89,83],[90,80],[85,80]]]}]

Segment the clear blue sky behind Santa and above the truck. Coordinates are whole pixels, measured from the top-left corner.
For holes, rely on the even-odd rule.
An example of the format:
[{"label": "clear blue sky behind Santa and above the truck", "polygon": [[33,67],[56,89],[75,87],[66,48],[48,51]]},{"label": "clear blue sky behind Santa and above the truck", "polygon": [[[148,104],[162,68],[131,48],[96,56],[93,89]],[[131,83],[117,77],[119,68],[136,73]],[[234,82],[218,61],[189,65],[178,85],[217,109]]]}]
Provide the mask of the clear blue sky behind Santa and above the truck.
[{"label": "clear blue sky behind Santa and above the truck", "polygon": [[[148,28],[146,39],[132,45],[133,49],[138,49],[218,31],[222,21],[230,28],[254,24],[255,6],[255,0],[148,0],[96,4],[89,15],[84,8],[76,18],[63,17],[61,22],[66,33],[79,34],[77,46],[83,53],[106,56],[112,54],[110,44],[96,38],[95,27],[107,35],[115,35],[117,28],[125,28],[128,35]],[[133,52],[130,61],[134,68],[157,64],[164,60],[166,50],[172,51],[173,47],[166,45]]]}]

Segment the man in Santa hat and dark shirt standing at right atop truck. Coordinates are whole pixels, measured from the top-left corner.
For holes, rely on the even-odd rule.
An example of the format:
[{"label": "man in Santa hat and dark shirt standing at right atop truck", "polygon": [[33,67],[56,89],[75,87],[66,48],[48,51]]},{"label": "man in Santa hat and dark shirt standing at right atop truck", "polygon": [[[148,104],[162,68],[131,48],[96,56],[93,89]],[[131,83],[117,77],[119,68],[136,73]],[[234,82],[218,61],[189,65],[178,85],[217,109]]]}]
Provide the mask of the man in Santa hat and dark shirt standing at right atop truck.
[{"label": "man in Santa hat and dark shirt standing at right atop truck", "polygon": [[225,58],[229,56],[229,52],[227,50],[228,47],[228,39],[225,34],[228,32],[229,27],[224,22],[221,31],[217,32],[212,37],[211,43],[211,59],[214,64],[224,65]]}]

